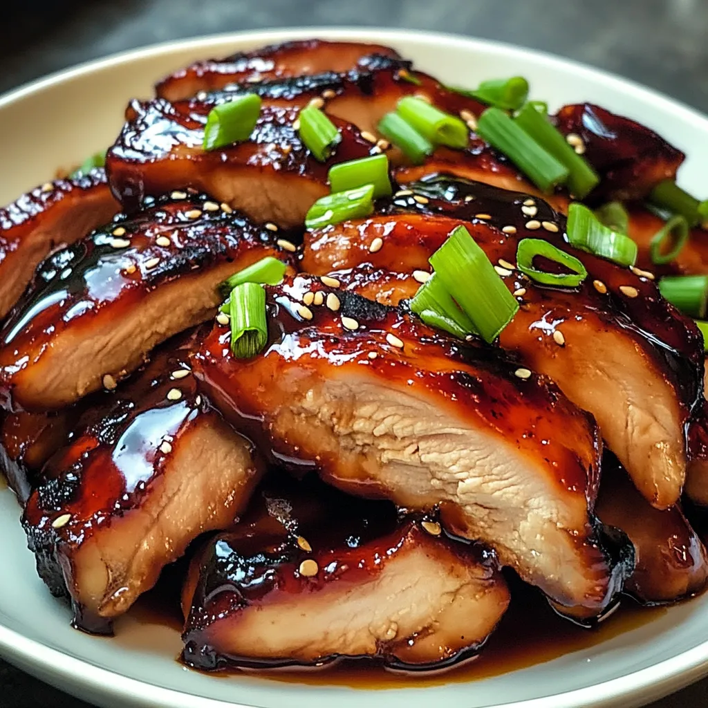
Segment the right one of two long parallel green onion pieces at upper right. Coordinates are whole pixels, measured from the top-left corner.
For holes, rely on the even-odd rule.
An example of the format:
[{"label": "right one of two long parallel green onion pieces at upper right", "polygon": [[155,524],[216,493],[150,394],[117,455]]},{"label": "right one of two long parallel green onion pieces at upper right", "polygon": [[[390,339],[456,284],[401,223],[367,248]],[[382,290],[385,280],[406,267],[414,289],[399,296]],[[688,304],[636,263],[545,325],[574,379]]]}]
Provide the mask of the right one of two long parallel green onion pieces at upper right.
[{"label": "right one of two long parallel green onion pieces at upper right", "polygon": [[514,118],[516,124],[569,171],[571,194],[582,199],[598,184],[600,178],[581,155],[566,142],[561,132],[551,125],[545,114],[532,105],[525,105]]}]

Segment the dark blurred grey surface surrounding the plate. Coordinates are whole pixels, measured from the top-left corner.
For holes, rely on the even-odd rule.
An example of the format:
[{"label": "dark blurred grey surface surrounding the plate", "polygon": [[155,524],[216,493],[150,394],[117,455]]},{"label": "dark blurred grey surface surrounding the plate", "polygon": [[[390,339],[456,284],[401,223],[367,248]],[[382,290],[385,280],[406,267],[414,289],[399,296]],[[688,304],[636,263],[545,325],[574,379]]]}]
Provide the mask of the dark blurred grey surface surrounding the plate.
[{"label": "dark blurred grey surface surrounding the plate", "polygon": [[[617,72],[708,112],[708,0],[4,0],[0,92],[177,38],[287,26],[441,30]],[[9,9],[8,9],[9,6]],[[88,708],[0,661],[0,707]],[[704,708],[708,681],[651,708]]]}]

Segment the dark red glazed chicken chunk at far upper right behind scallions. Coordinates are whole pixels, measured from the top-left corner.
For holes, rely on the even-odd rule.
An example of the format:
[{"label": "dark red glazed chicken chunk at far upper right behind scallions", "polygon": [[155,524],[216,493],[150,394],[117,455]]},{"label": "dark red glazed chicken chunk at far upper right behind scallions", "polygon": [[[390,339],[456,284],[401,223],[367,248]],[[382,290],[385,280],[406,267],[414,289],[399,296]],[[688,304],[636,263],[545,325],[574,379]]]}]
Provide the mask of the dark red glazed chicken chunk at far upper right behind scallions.
[{"label": "dark red glazed chicken chunk at far upper right behind scallions", "polygon": [[640,123],[592,103],[565,105],[555,116],[564,135],[583,140],[583,157],[600,175],[593,200],[641,199],[674,179],[684,154]]}]

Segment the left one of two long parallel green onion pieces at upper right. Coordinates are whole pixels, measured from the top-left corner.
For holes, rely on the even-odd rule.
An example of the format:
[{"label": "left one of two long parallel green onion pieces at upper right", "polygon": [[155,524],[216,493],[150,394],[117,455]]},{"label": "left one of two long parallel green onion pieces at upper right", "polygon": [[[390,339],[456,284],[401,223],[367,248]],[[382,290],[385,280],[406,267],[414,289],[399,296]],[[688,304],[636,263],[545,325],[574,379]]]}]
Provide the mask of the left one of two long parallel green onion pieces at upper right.
[{"label": "left one of two long parallel green onion pieces at upper right", "polygon": [[542,148],[503,110],[487,108],[477,120],[477,135],[503,152],[544,192],[565,182],[569,170]]}]

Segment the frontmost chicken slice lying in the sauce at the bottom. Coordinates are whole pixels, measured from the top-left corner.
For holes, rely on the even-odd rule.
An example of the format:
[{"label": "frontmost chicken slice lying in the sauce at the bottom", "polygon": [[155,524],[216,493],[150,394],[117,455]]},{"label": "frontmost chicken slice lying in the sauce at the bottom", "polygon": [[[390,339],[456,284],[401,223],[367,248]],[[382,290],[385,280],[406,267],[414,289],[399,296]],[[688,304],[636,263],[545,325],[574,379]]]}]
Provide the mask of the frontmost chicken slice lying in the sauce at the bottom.
[{"label": "frontmost chicken slice lying in the sauce at the bottom", "polygon": [[193,559],[183,592],[188,666],[368,656],[424,670],[481,649],[509,603],[493,554],[441,535],[435,521],[399,520],[390,503],[307,480],[293,486],[264,490],[255,514]]}]

